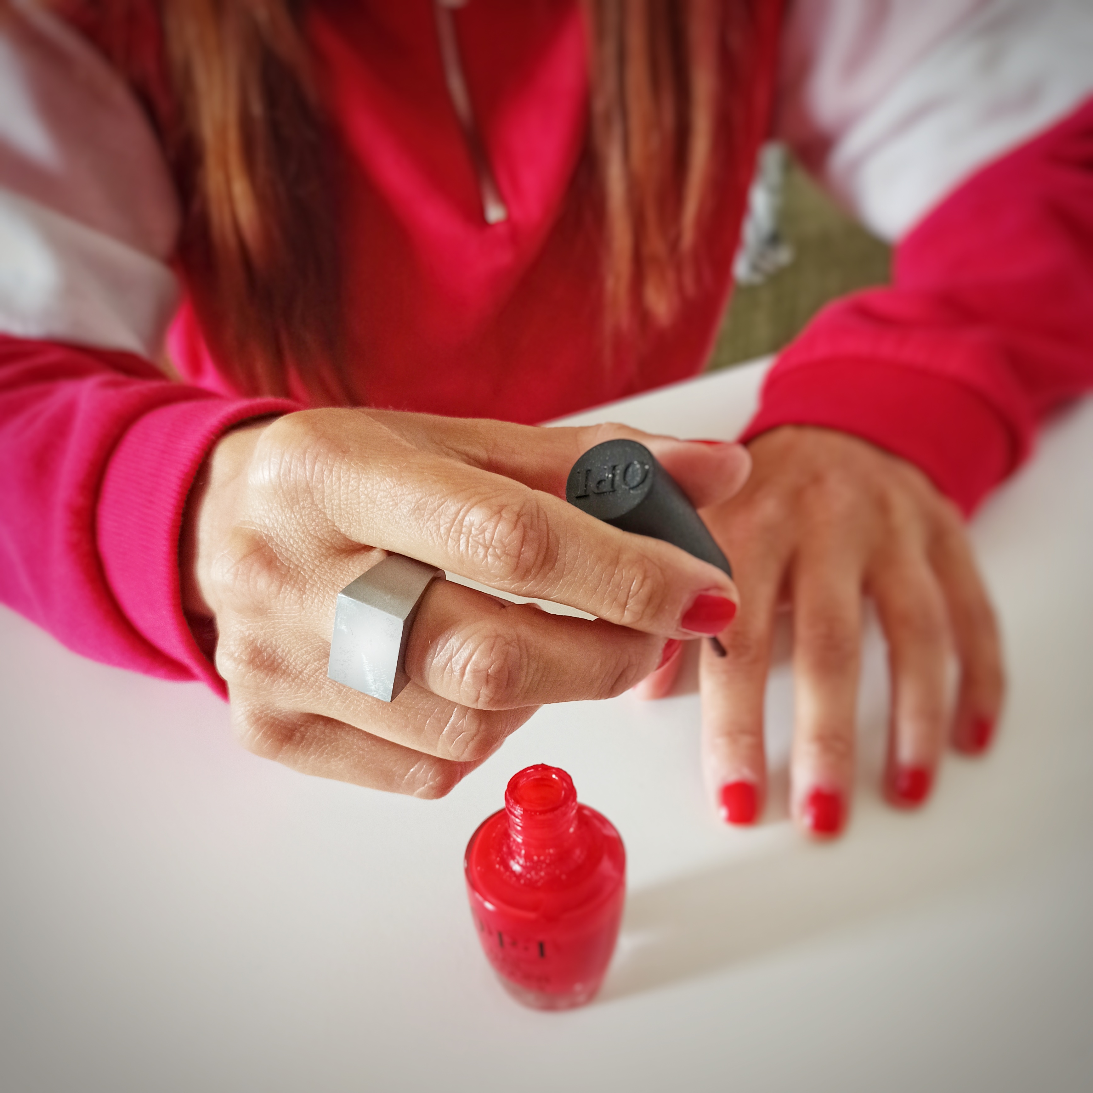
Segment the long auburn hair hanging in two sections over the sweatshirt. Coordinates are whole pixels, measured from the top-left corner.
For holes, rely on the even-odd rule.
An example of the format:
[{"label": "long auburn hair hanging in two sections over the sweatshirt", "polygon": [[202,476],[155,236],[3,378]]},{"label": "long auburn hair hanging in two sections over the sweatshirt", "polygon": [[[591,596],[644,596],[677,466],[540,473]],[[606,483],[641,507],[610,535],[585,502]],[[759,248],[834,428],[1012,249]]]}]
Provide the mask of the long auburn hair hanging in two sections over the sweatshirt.
[{"label": "long auburn hair hanging in two sections over the sweatshirt", "polygon": [[[662,326],[696,277],[717,186],[747,181],[739,107],[763,0],[580,0],[608,327]],[[305,0],[52,0],[143,98],[179,189],[179,262],[219,366],[362,399],[341,346],[325,119]]]}]

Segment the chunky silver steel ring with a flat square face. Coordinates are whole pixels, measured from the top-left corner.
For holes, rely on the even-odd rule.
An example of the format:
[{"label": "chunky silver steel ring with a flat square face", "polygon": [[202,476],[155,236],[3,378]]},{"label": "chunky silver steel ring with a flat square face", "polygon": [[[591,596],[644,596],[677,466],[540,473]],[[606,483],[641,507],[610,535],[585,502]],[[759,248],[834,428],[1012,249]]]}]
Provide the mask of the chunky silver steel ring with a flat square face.
[{"label": "chunky silver steel ring with a flat square face", "polygon": [[327,675],[362,694],[393,701],[410,682],[407,642],[422,597],[444,571],[388,554],[338,593]]}]

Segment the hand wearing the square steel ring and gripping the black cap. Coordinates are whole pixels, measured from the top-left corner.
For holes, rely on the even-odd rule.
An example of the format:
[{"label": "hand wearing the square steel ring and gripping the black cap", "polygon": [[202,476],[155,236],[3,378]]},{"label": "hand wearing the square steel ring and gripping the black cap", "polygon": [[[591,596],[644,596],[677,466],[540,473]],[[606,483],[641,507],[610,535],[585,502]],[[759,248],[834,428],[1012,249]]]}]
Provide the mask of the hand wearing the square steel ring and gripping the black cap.
[{"label": "hand wearing the square steel ring and gripping the black cap", "polygon": [[[537,428],[373,410],[312,410],[224,436],[188,503],[183,596],[215,621],[216,668],[250,751],[309,774],[437,797],[543,703],[606,698],[667,640],[719,633],[732,581],[675,546],[567,505],[602,440],[642,440],[697,506],[740,489],[738,445],[622,426]],[[327,678],[338,592],[398,552],[554,600],[554,615],[450,581],[422,599],[393,703]]]}]

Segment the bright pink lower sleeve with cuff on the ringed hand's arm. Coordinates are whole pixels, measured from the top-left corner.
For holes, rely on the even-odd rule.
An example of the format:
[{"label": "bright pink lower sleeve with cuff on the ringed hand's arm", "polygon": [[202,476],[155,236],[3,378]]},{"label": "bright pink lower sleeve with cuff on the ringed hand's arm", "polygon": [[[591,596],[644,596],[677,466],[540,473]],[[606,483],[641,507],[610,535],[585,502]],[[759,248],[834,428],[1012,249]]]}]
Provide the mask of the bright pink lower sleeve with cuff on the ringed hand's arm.
[{"label": "bright pink lower sleeve with cuff on the ringed hand's arm", "polygon": [[84,656],[225,694],[181,610],[183,509],[219,436],[294,409],[0,334],[0,599]]}]

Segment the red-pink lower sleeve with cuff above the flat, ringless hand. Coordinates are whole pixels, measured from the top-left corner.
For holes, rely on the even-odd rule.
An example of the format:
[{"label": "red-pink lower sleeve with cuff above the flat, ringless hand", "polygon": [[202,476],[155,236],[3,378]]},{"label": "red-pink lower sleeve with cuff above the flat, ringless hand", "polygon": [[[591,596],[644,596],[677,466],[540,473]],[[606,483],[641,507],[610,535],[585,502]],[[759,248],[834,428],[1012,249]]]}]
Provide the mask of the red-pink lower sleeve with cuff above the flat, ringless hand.
[{"label": "red-pink lower sleeve with cuff above the flat, ringless hand", "polygon": [[1093,101],[975,174],[900,245],[891,287],[830,305],[767,376],[751,439],[851,433],[965,513],[1093,387]]}]

